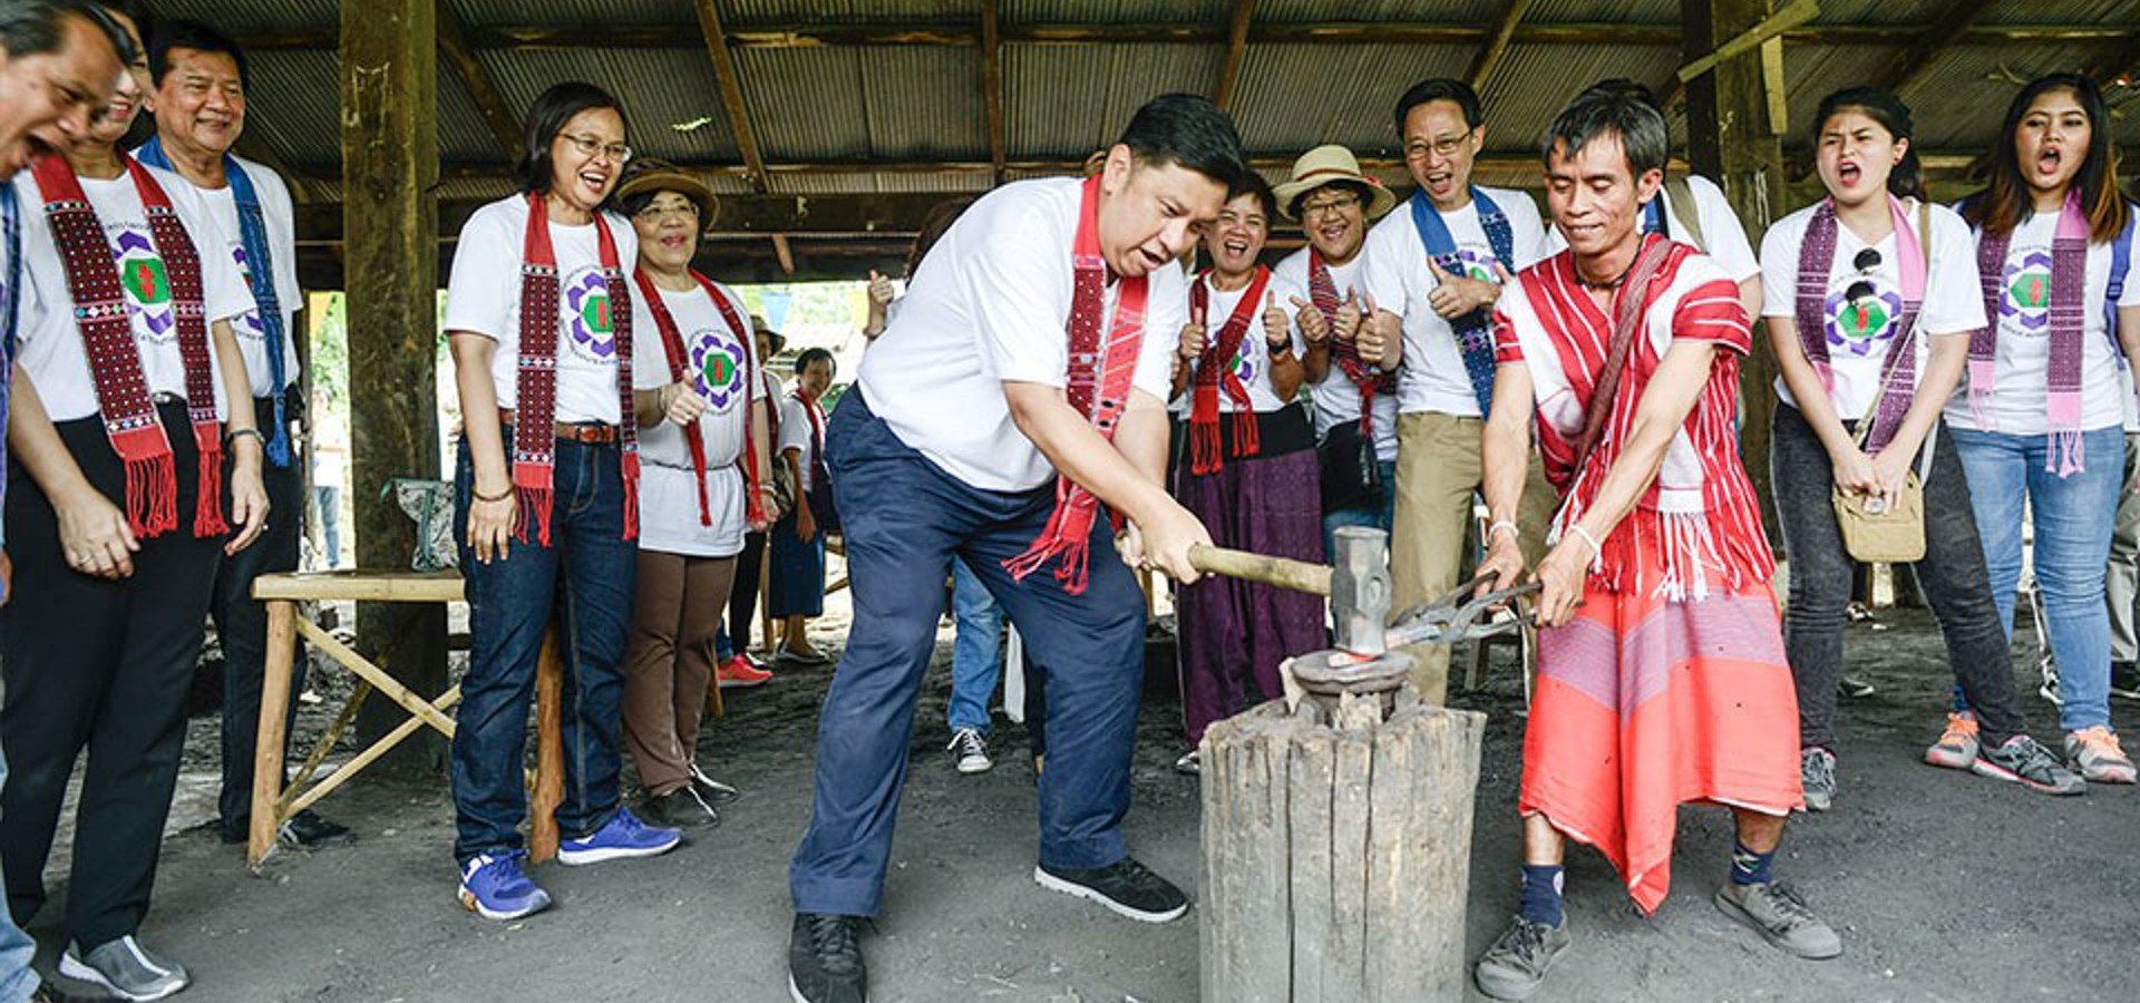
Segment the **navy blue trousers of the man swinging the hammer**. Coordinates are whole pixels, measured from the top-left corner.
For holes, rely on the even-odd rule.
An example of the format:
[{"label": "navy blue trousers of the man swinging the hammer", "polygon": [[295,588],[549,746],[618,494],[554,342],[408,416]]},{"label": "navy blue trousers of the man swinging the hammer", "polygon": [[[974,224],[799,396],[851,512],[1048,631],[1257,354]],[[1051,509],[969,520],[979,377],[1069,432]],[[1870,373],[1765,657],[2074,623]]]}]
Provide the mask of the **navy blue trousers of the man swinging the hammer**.
[{"label": "navy blue trousers of the man swinging the hammer", "polygon": [[944,575],[965,558],[1046,674],[1049,768],[1040,774],[1040,862],[1102,868],[1128,855],[1130,753],[1145,680],[1145,597],[1091,528],[1089,582],[1064,592],[1055,565],[1012,582],[1004,560],[1040,535],[1055,485],[987,492],[950,477],[850,389],[826,436],[847,530],[854,629],[817,719],[811,825],[788,868],[796,911],[875,915],[907,776],[914,699],[935,648]]}]

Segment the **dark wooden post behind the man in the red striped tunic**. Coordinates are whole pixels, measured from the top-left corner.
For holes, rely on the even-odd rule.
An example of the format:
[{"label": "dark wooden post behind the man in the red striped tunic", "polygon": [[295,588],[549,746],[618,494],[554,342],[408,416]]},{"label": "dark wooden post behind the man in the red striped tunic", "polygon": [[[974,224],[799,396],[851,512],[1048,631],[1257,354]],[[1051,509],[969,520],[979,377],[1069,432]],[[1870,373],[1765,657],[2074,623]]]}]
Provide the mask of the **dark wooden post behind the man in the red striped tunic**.
[{"label": "dark wooden post behind the man in the red striped tunic", "polygon": [[[1699,60],[1725,41],[1761,24],[1770,0],[1682,0],[1686,60]],[[1695,173],[1714,180],[1738,210],[1746,237],[1761,246],[1770,220],[1783,216],[1785,165],[1780,124],[1770,118],[1761,53],[1746,51],[1686,83],[1686,158]],[[1783,81],[1772,81],[1783,86]],[[1740,374],[1740,451],[1761,496],[1768,526],[1776,526],[1776,492],[1768,475],[1768,423],[1776,413],[1776,353],[1755,336],[1755,351]]]}]

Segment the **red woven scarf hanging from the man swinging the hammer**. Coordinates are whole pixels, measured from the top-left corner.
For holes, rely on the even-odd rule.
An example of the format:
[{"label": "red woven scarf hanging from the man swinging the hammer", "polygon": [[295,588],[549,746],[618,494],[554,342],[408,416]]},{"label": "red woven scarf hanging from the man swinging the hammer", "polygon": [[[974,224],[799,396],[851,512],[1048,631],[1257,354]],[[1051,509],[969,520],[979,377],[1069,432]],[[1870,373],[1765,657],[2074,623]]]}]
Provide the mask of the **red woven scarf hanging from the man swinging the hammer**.
[{"label": "red woven scarf hanging from the man swinging the hammer", "polygon": [[[1070,372],[1066,396],[1070,408],[1085,415],[1100,438],[1115,441],[1115,426],[1130,404],[1130,376],[1136,372],[1136,349],[1145,340],[1145,276],[1124,278],[1115,297],[1113,323],[1102,331],[1106,312],[1106,259],[1100,257],[1100,175],[1085,180],[1079,205],[1076,240],[1070,244]],[[1025,554],[1004,562],[1012,580],[1038,571],[1061,556],[1055,580],[1064,592],[1083,595],[1091,558],[1091,524],[1100,498],[1068,477],[1055,477],[1055,511],[1046,528]]]}]

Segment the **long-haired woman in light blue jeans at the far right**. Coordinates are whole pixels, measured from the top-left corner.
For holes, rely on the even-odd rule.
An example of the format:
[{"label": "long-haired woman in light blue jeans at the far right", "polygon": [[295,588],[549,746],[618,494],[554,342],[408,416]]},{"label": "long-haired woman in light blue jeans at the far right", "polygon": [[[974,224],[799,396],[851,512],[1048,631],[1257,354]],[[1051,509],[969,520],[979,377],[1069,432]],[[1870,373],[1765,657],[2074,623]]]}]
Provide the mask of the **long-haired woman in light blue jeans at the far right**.
[{"label": "long-haired woman in light blue jeans at the far right", "polygon": [[[2140,274],[2110,139],[2089,77],[2035,79],[2007,105],[1990,186],[1962,207],[1977,231],[1990,325],[1969,340],[1967,394],[1947,402],[1947,423],[2001,627],[2014,622],[2029,503],[2067,761],[2091,783],[2134,783],[2134,761],[2110,729],[2104,565],[2125,458],[2119,364],[2140,355]],[[1973,695],[1969,706],[1988,731],[1986,708]],[[1967,714],[1950,727],[1965,749]]]}]

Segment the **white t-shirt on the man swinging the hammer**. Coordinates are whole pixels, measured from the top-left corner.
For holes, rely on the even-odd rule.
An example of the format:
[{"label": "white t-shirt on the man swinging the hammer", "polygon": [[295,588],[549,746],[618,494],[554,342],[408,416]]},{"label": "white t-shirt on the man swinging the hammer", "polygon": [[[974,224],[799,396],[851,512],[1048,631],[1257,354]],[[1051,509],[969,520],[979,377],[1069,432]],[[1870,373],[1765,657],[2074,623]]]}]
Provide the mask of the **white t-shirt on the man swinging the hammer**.
[{"label": "white t-shirt on the man swinging the hammer", "polygon": [[[862,355],[856,385],[869,408],[972,488],[1025,492],[1055,477],[1010,421],[1004,383],[1068,383],[1081,192],[1079,178],[1038,178],[984,195],[929,250],[899,317]],[[1119,291],[1121,282],[1106,289],[1104,325]],[[1173,265],[1151,269],[1136,389],[1166,400],[1186,319],[1188,278]]]}]

